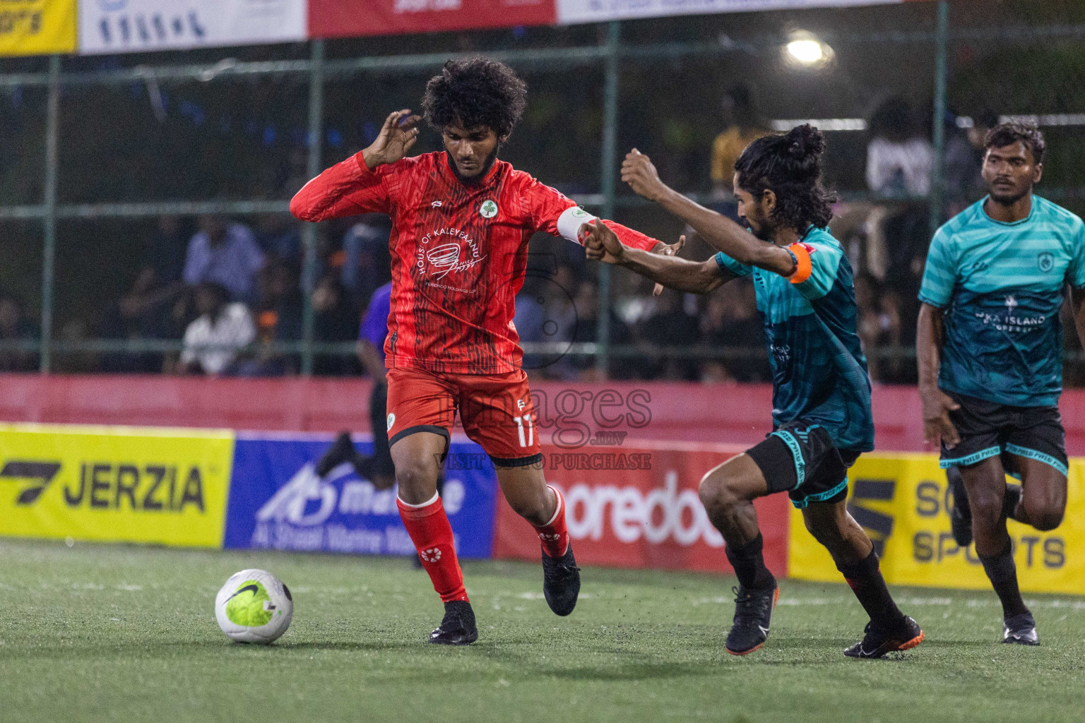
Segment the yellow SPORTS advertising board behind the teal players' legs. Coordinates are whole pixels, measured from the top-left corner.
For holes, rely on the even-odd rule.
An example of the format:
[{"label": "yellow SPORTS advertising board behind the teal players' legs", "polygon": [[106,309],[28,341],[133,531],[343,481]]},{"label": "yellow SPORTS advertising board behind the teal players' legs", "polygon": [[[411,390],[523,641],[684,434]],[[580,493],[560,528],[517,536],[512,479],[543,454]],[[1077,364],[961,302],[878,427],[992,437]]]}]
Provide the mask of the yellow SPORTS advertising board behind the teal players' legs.
[{"label": "yellow SPORTS advertising board behind the teal players' legs", "polygon": [[[949,532],[945,473],[935,454],[864,454],[851,469],[848,509],[875,541],[890,584],[986,590],[972,545]],[[1011,480],[1012,481],[1012,480]],[[1085,594],[1085,460],[1071,460],[1067,514],[1049,532],[1009,521],[1021,590]],[[792,511],[788,572],[842,581],[829,553]]]}]

